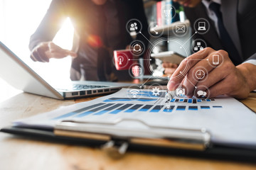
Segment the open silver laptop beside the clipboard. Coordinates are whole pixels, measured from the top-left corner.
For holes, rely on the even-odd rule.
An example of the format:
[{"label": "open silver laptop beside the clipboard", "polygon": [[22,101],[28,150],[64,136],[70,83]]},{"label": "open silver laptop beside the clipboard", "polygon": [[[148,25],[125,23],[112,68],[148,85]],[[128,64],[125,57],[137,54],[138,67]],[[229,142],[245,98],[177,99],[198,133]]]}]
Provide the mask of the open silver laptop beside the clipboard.
[{"label": "open silver laptop beside the clipboard", "polygon": [[58,88],[50,86],[0,41],[0,77],[16,89],[60,100],[112,94],[134,84],[102,81],[70,81]]}]

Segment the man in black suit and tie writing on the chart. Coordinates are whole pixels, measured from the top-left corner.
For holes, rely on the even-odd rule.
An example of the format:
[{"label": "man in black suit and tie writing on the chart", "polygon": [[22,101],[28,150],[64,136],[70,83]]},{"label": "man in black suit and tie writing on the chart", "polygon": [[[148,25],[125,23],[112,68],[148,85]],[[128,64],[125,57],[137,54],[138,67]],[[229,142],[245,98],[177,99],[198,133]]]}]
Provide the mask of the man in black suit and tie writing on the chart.
[{"label": "man in black suit and tie writing on the chart", "polygon": [[[208,47],[183,60],[172,74],[169,90],[181,84],[187,96],[201,87],[212,98],[225,94],[246,98],[256,89],[256,1],[250,0],[174,0],[184,6],[188,20],[206,18],[210,23],[208,33],[196,33],[194,38],[206,41]],[[221,65],[210,67],[213,55],[220,55]],[[188,69],[185,67],[188,64]],[[165,65],[164,67],[169,67]],[[205,81],[195,79],[198,67],[206,68]],[[174,79],[183,72],[184,76]],[[204,86],[204,87],[203,87]],[[205,88],[207,87],[207,88]]]}]

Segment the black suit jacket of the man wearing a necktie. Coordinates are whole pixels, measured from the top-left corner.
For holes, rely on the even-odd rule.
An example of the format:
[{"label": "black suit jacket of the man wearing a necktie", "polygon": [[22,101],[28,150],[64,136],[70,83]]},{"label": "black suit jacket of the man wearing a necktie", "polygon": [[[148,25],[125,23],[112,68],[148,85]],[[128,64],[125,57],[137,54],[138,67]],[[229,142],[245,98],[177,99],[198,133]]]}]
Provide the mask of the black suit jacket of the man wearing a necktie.
[{"label": "black suit jacket of the man wearing a necktie", "polygon": [[[223,50],[213,21],[207,15],[206,7],[201,3],[195,8],[185,8],[188,20],[193,23],[198,18],[206,18],[210,22],[210,30],[204,35],[196,34],[196,38],[206,41],[208,47]],[[240,54],[240,63],[245,60],[256,60],[256,1],[223,0],[220,10],[223,23]],[[239,64],[240,64],[239,63]]]}]

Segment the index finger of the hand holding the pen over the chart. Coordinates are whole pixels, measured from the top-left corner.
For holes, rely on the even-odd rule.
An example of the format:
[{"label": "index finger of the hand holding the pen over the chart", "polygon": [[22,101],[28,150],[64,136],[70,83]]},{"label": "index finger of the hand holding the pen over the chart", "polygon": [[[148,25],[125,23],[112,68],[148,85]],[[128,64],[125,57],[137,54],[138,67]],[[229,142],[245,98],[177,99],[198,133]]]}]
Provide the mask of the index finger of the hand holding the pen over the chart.
[{"label": "index finger of the hand holding the pen over the chart", "polygon": [[172,74],[171,79],[169,81],[169,84],[167,85],[167,88],[170,91],[173,91],[175,89],[175,85],[181,83],[183,77],[186,76],[188,71],[198,62],[206,58],[211,52],[214,50],[210,47],[207,47],[199,52],[196,52],[195,54],[187,57],[184,59],[181,64],[179,64],[178,68]]}]

